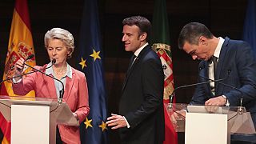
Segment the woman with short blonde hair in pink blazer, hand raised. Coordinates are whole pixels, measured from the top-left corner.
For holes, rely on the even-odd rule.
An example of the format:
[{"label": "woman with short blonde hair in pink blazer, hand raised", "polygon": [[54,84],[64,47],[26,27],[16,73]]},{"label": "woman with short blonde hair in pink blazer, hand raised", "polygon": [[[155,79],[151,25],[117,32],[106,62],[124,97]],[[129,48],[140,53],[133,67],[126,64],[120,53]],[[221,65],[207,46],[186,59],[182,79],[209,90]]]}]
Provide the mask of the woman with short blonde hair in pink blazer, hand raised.
[{"label": "woman with short blonde hair in pink blazer, hand raised", "polygon": [[[65,88],[63,102],[67,103],[80,123],[89,114],[90,108],[85,74],[75,70],[66,62],[74,51],[73,35],[67,30],[53,28],[45,34],[45,47],[51,62],[44,66],[34,66],[34,68],[63,82]],[[53,59],[56,60],[54,64]],[[14,76],[21,75],[24,59],[20,58],[14,68]],[[60,98],[59,91],[62,90],[62,84],[45,74],[35,72],[24,78],[13,78],[13,90],[14,94],[25,95],[30,90],[34,90],[36,97]],[[79,126],[58,125],[56,143],[81,143]]]}]

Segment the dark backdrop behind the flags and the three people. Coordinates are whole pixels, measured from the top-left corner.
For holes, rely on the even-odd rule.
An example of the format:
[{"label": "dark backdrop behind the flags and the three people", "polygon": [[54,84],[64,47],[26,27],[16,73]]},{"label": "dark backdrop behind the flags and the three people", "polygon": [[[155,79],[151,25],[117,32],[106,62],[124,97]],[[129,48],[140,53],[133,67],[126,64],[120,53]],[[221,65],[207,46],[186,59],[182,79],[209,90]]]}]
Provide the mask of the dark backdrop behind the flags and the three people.
[{"label": "dark backdrop behind the flags and the three people", "polygon": [[[53,27],[69,30],[74,34],[75,46],[78,46],[83,3],[82,0],[28,0],[37,65],[42,66],[49,62],[43,44],[46,30]],[[166,0],[175,86],[196,82],[198,72],[198,61],[192,61],[188,54],[177,48],[178,33],[182,26],[187,22],[202,22],[217,37],[241,39],[246,3],[246,0]],[[125,52],[121,42],[122,19],[142,15],[151,20],[154,0],[98,0],[98,8],[105,58],[108,111],[116,113],[122,81],[130,58],[130,53]],[[13,11],[14,0],[0,1],[0,79],[5,66]],[[69,62],[74,67],[76,54],[78,50],[75,49]],[[190,102],[193,91],[194,87],[178,90],[177,102]],[[110,131],[110,143],[118,142],[118,133]]]}]

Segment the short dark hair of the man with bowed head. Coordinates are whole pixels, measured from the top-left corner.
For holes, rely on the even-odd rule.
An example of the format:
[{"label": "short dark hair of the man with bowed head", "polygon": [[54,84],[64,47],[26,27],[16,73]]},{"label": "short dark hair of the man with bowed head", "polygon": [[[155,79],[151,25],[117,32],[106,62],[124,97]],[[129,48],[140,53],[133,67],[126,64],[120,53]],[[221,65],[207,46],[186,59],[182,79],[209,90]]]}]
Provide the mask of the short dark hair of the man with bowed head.
[{"label": "short dark hair of the man with bowed head", "polygon": [[199,37],[214,38],[210,30],[202,23],[190,22],[186,24],[178,36],[178,48],[183,49],[185,42],[198,45]]}]

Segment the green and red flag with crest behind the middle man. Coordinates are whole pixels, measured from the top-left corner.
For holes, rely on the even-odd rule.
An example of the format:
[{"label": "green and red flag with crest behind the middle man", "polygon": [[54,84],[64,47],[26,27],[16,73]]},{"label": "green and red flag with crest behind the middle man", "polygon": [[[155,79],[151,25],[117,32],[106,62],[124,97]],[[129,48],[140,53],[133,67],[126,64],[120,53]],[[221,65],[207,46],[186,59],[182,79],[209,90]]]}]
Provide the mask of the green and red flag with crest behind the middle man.
[{"label": "green and red flag with crest behind the middle man", "polygon": [[[162,68],[165,74],[163,103],[170,102],[170,94],[174,91],[173,63],[170,47],[169,22],[166,13],[166,0],[155,0],[152,26],[152,48],[158,54],[162,62]],[[175,102],[175,98],[173,99]],[[165,141],[164,144],[177,144],[178,135],[174,130],[172,122],[165,112]]]}]

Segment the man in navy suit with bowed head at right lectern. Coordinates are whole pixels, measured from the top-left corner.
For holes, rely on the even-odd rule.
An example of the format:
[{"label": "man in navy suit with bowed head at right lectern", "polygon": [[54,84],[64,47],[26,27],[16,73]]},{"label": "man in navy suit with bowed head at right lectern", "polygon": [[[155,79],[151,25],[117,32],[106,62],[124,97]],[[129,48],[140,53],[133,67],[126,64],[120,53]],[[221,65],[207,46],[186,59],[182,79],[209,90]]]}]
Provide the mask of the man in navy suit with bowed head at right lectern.
[{"label": "man in navy suit with bowed head at right lectern", "polygon": [[[190,22],[182,28],[178,46],[193,59],[202,60],[198,82],[224,78],[222,83],[228,85],[218,82],[199,85],[190,104],[245,106],[256,126],[256,59],[249,44],[216,38],[205,25]],[[211,62],[212,59],[217,61]]]}]

